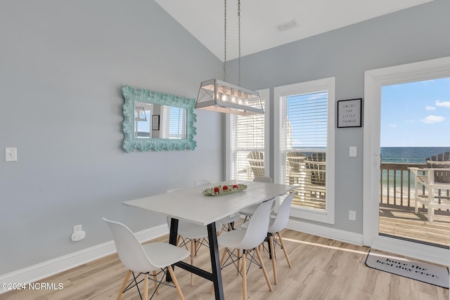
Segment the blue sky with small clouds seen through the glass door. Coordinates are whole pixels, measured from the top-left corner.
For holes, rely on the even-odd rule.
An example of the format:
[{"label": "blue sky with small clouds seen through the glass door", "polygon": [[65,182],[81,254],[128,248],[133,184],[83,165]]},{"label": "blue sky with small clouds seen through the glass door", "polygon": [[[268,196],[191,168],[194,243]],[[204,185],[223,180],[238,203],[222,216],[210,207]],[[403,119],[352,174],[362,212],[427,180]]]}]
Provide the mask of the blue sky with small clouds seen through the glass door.
[{"label": "blue sky with small clouds seen through the glass door", "polygon": [[383,86],[381,147],[450,147],[450,77]]}]

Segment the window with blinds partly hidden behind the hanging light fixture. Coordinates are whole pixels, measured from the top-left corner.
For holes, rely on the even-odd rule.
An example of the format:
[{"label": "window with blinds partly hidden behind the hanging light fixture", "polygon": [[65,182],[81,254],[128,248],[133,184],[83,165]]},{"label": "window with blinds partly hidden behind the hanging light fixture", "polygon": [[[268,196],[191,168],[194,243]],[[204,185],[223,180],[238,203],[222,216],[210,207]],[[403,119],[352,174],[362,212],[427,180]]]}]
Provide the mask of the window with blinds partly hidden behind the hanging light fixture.
[{"label": "window with blinds partly hidden behind the hanging light fixture", "polygon": [[269,120],[269,90],[259,91],[264,115],[227,115],[226,178],[252,181],[255,176],[269,176],[269,151],[266,150],[266,125]]}]

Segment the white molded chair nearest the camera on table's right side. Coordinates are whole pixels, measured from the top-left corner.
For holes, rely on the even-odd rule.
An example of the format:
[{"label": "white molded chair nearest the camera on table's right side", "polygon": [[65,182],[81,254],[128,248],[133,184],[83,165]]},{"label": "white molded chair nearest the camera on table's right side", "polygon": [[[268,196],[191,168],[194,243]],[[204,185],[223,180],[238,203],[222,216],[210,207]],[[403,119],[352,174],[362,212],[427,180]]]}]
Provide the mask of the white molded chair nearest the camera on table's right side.
[{"label": "white molded chair nearest the camera on table's right side", "polygon": [[[247,229],[239,228],[231,230],[217,237],[217,243],[219,246],[225,247],[224,253],[221,256],[221,268],[234,264],[237,266],[240,275],[242,275],[243,299],[247,299],[247,272],[252,263],[257,264],[260,268],[262,268],[262,273],[266,279],[269,291],[272,291],[269,276],[267,275],[264,262],[262,261],[261,254],[258,249],[259,244],[264,242],[267,230],[269,229],[272,202],[274,202],[274,200],[259,204],[257,209],[255,209],[252,219],[248,222]],[[234,249],[238,250],[237,255],[234,254]],[[255,260],[255,253],[253,252],[257,254],[258,261]],[[248,267],[247,259],[250,261]],[[229,260],[231,260],[231,262],[229,262]],[[240,261],[240,264],[236,265],[236,261]],[[242,266],[239,267],[239,265]]]}]

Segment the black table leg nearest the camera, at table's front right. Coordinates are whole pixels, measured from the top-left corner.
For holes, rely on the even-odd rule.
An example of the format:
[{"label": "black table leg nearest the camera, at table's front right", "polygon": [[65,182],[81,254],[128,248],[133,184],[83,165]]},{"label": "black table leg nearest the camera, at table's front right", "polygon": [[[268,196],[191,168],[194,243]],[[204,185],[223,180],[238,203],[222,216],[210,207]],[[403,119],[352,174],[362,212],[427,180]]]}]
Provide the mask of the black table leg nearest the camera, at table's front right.
[{"label": "black table leg nearest the camera, at table's front right", "polygon": [[216,223],[210,223],[208,228],[208,239],[210,240],[210,255],[212,267],[212,282],[214,283],[214,294],[216,299],[224,299],[224,286],[222,285],[222,273],[219,259],[219,246],[217,244]]}]

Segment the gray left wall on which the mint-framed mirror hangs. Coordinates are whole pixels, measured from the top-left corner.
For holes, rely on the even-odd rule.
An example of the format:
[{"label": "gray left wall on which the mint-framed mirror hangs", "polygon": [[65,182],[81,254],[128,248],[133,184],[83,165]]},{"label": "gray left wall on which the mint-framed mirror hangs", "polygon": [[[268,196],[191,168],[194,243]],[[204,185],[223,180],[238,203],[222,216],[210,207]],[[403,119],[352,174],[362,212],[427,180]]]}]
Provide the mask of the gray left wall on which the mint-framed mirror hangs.
[{"label": "gray left wall on which the mint-framed mirror hangs", "polygon": [[120,89],[195,98],[221,72],[154,1],[0,1],[0,275],[112,240],[102,216],[165,222],[124,200],[220,181],[221,115],[197,112],[195,151],[126,153]]}]

